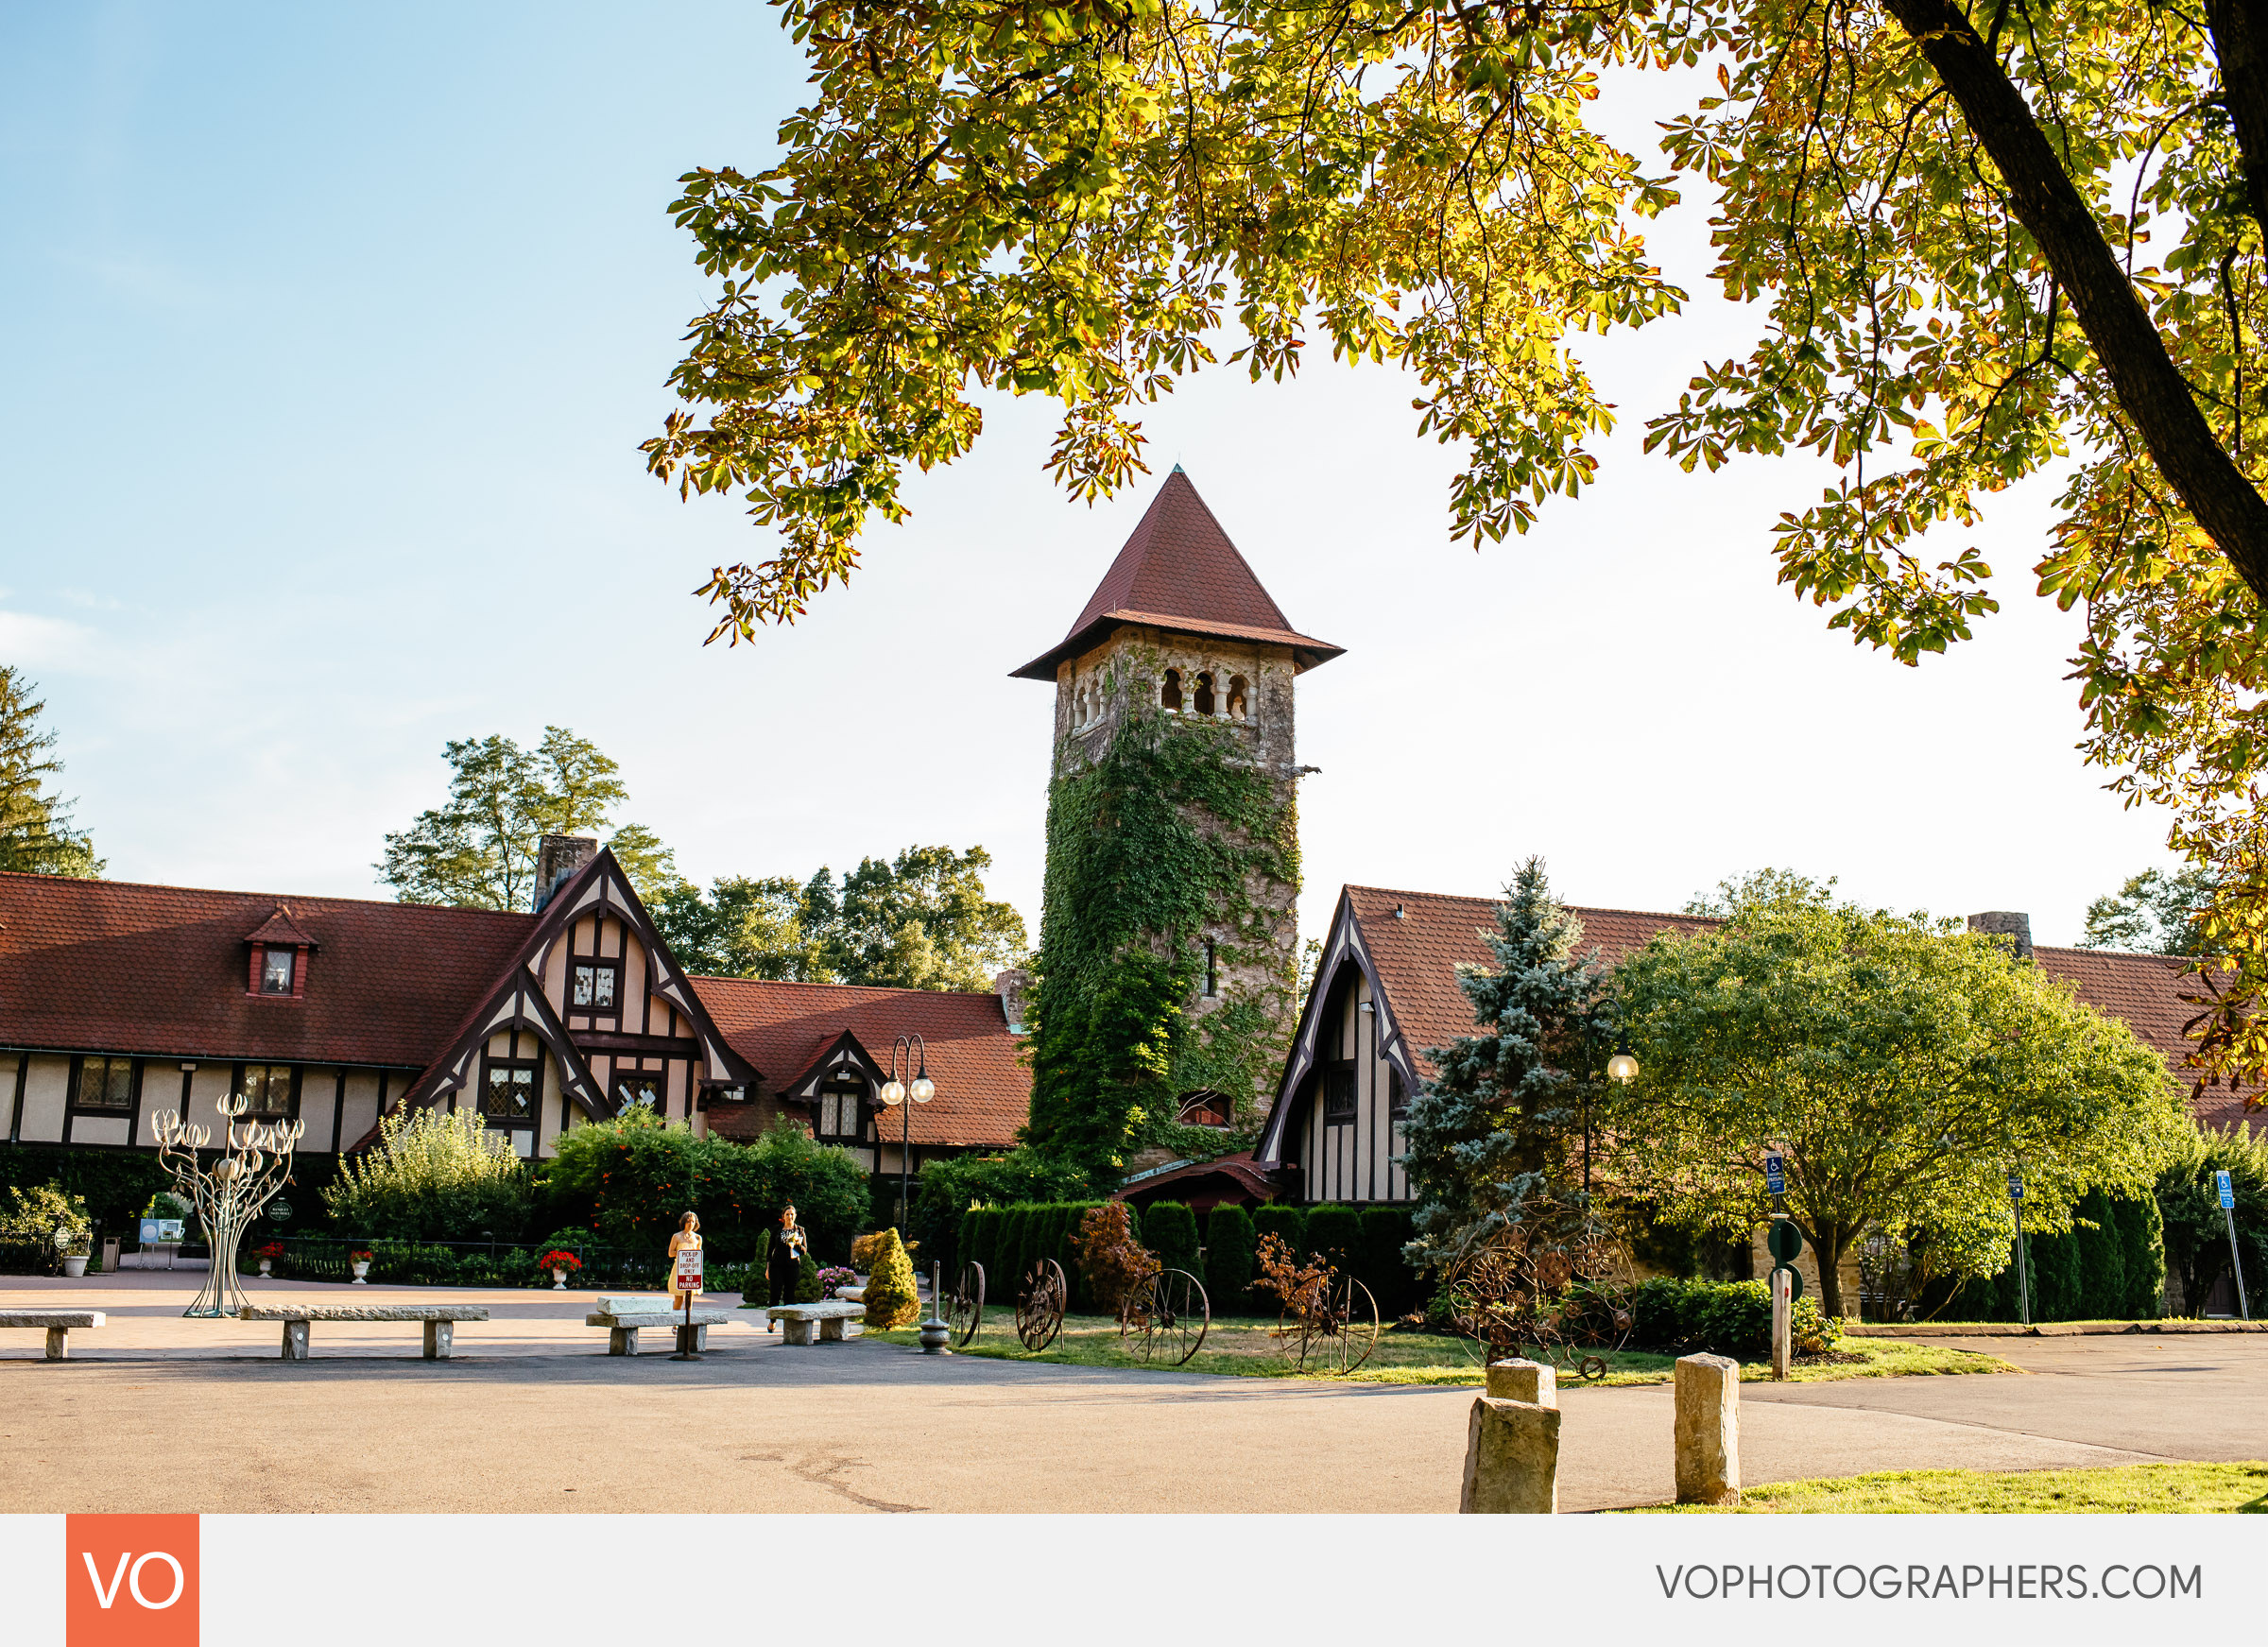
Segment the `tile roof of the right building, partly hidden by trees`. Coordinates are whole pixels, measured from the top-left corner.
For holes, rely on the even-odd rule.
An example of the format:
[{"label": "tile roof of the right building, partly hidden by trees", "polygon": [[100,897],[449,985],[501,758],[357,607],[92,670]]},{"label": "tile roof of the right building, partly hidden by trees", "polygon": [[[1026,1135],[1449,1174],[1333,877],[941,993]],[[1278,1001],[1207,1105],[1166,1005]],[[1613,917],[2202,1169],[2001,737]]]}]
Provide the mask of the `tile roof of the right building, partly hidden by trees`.
[{"label": "tile roof of the right building, partly hidden by trees", "polygon": [[[1386,985],[1388,1010],[1399,1021],[1420,1064],[1427,1048],[1472,1034],[1472,1003],[1456,985],[1456,969],[1458,964],[1490,964],[1488,935],[1497,928],[1499,901],[1388,892],[1383,887],[1347,887],[1347,898]],[[1395,919],[1397,907],[1402,919]],[[1717,926],[1717,921],[1694,914],[1585,910],[1579,905],[1569,905],[1567,912],[1583,923],[1583,937],[1574,953],[1597,951],[1608,966],[1656,932],[1699,932]],[[2157,1048],[2177,1080],[2184,1084],[2193,1080],[2182,1069],[2191,1048],[2182,1025],[2198,1012],[2182,1000],[2182,994],[2193,987],[2184,975],[2184,962],[2168,955],[2048,946],[2034,946],[2032,957],[2050,978],[2071,982],[2080,1000],[2105,1016],[2121,1019],[2141,1041]],[[2232,1093],[2225,1087],[2193,1100],[2191,1109],[2204,1125],[2259,1121],[2257,1109],[2245,1109],[2243,1091]]]}]

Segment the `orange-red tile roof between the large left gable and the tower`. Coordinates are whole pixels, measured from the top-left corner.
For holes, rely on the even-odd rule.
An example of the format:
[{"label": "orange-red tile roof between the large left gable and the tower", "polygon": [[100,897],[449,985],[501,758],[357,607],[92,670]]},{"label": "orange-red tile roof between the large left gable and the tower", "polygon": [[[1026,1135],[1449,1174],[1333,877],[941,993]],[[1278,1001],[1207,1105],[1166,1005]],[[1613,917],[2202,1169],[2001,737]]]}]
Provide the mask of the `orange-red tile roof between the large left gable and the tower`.
[{"label": "orange-red tile roof between the large left gable and the tower", "polygon": [[[1000,996],[755,978],[694,978],[692,987],[726,1044],[764,1073],[767,1091],[801,1080],[846,1030],[885,1069],[896,1037],[921,1034],[937,1096],[914,1107],[914,1143],[1007,1148],[1032,1114],[1032,1071]],[[894,1114],[880,1121],[885,1139],[900,1125]]]}]

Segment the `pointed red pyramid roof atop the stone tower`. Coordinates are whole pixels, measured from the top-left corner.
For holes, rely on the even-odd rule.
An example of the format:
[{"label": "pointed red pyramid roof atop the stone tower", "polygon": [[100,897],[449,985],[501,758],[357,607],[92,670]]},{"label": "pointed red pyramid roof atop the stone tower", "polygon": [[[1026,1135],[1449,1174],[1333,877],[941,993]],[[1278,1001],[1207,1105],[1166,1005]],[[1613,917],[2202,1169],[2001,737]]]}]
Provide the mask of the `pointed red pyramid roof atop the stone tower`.
[{"label": "pointed red pyramid roof atop the stone tower", "polygon": [[1345,651],[1290,626],[1284,608],[1252,576],[1252,567],[1236,554],[1229,533],[1220,531],[1220,522],[1182,474],[1179,463],[1157,488],[1150,510],[1111,560],[1111,569],[1102,574],[1080,622],[1061,642],[1012,674],[1023,681],[1052,681],[1064,658],[1100,647],[1120,624],[1290,647],[1295,669],[1313,669]]}]

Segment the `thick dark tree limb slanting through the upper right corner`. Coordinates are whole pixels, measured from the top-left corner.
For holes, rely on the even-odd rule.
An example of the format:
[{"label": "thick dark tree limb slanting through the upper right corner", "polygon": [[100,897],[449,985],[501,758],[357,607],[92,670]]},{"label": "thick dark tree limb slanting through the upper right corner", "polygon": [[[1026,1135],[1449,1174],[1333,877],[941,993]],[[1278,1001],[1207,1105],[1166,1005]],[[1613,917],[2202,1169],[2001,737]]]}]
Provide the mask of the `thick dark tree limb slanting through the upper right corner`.
[{"label": "thick dark tree limb slanting through the upper right corner", "polygon": [[[2166,352],[2166,340],[2157,336],[2150,313],[2112,256],[2102,225],[2071,184],[2023,93],[1950,0],[1887,0],[1887,5],[2000,170],[2009,211],[2039,243],[2057,286],[2071,297],[2071,311],[2102,370],[2109,372],[2112,390],[2134,420],[2150,461],[2252,594],[2268,601],[2268,499],[2261,499],[2214,436]],[[2218,0],[2214,16],[2223,11],[2245,14],[2250,20],[2245,0]],[[2250,29],[2243,29],[2243,41],[2241,57],[2250,64]],[[2232,104],[2234,98],[2232,88]],[[2261,98],[2268,111],[2268,88],[2261,88]],[[2250,181],[2250,157],[2245,172]]]}]

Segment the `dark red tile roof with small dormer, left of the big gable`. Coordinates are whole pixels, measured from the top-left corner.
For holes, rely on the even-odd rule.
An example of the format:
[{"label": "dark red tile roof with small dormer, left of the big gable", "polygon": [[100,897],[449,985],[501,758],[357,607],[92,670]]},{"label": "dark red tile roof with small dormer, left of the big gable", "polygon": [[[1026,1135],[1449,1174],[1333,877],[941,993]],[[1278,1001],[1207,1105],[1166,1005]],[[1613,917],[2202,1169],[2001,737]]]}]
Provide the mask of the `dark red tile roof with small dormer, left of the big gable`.
[{"label": "dark red tile roof with small dormer, left of the big gable", "polygon": [[245,939],[274,914],[272,892],[0,873],[0,1044],[415,1069],[535,921],[293,898],[290,923],[315,946],[306,991],[254,996]]}]

